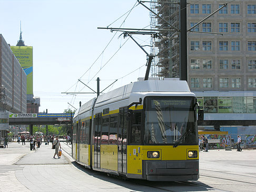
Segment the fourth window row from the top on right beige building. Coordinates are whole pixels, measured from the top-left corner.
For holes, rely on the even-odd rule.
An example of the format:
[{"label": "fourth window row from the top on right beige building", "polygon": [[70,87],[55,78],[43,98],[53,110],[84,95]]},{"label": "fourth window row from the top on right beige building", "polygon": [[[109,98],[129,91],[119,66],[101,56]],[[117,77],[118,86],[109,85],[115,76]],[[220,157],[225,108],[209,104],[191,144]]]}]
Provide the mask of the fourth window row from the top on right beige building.
[{"label": "fourth window row from the top on right beige building", "polygon": [[[247,68],[248,71],[256,70],[256,58],[247,60]],[[212,70],[213,69],[213,61],[211,58],[203,58],[203,59],[190,59],[190,69],[191,70]],[[221,58],[219,59],[219,69],[221,70],[241,70],[242,62],[240,58]]]}]

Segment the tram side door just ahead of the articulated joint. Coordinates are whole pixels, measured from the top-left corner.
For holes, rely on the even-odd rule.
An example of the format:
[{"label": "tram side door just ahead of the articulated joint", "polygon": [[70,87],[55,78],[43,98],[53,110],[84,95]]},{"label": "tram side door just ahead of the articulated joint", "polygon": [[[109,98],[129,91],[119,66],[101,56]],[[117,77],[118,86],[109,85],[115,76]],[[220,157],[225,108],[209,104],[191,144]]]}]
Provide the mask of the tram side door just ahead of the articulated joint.
[{"label": "tram side door just ahead of the articulated joint", "polygon": [[101,168],[101,113],[94,119],[94,167]]}]

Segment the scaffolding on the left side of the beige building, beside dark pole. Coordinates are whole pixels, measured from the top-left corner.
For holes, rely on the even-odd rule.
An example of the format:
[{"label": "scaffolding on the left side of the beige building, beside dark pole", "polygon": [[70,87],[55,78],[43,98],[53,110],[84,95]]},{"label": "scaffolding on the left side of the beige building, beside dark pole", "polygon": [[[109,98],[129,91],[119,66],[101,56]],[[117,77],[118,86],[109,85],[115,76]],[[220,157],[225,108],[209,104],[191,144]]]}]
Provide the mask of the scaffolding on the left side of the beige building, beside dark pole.
[{"label": "scaffolding on the left side of the beige building, beside dark pole", "polygon": [[[179,4],[175,0],[153,0],[150,8],[176,28],[179,28]],[[151,29],[172,29],[166,22],[150,13]],[[159,32],[163,38],[151,39],[151,54],[157,55],[151,67],[152,77],[180,77],[179,32]]]}]

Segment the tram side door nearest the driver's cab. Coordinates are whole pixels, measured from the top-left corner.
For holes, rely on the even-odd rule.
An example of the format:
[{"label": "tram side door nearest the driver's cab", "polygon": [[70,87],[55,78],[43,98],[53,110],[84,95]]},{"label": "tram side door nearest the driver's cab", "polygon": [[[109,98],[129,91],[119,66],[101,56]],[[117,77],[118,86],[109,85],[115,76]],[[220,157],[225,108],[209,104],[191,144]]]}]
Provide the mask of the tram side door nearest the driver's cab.
[{"label": "tram side door nearest the driver's cab", "polygon": [[127,173],[127,128],[129,120],[127,120],[127,107],[119,109],[119,126],[118,126],[118,172],[121,174]]}]

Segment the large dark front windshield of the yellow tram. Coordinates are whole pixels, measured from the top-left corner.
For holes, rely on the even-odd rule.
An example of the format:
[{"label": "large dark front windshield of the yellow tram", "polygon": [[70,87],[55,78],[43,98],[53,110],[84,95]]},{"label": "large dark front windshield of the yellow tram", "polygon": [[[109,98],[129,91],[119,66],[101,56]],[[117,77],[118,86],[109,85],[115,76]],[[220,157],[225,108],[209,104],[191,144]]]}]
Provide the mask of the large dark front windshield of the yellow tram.
[{"label": "large dark front windshield of the yellow tram", "polygon": [[146,144],[198,144],[193,97],[145,99]]}]

